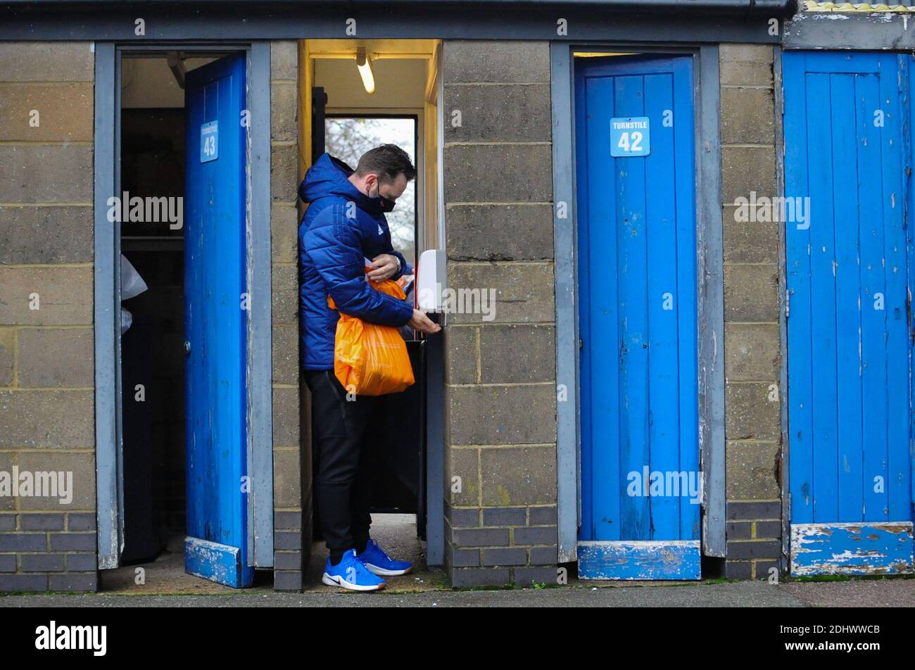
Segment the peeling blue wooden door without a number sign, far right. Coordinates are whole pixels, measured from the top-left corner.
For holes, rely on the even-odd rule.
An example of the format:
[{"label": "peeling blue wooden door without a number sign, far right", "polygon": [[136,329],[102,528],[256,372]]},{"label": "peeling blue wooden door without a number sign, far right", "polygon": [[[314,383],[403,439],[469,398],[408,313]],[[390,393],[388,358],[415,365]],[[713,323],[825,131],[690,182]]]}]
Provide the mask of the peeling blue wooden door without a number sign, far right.
[{"label": "peeling blue wooden door without a number sign, far right", "polygon": [[794,575],[912,568],[910,63],[784,55]]}]

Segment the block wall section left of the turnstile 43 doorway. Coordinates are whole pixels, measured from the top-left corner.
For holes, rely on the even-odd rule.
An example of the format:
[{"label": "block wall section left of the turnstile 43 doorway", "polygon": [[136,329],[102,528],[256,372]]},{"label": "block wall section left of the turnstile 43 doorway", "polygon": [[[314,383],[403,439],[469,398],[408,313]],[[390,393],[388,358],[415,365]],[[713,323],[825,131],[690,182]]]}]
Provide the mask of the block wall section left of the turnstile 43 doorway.
[{"label": "block wall section left of the turnstile 43 doorway", "polygon": [[[98,586],[93,79],[91,42],[0,43],[0,591]],[[14,467],[72,499],[9,495]]]}]

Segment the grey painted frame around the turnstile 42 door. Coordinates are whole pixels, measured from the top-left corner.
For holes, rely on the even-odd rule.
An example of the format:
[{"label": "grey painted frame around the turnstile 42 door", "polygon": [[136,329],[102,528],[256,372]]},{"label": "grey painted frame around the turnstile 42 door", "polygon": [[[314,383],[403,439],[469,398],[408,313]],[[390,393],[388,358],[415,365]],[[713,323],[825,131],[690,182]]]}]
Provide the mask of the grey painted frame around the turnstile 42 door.
[{"label": "grey painted frame around the turnstile 42 door", "polygon": [[[550,45],[553,105],[556,304],[557,516],[559,562],[576,561],[581,520],[580,399],[575,147],[576,51],[694,57],[696,316],[699,360],[699,456],[703,472],[702,553],[724,557],[725,359],[718,46],[612,43]],[[705,362],[705,364],[703,364]]]}]

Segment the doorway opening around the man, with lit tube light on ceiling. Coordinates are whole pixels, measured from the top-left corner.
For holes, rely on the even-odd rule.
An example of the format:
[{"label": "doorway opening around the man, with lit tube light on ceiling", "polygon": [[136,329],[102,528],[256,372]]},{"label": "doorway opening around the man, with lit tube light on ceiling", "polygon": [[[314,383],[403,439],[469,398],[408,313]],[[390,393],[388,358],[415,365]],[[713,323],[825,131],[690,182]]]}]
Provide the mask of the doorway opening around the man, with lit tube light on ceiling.
[{"label": "doorway opening around the man, with lit tube light on ceiling", "polygon": [[[396,209],[385,216],[394,248],[414,270],[422,252],[444,246],[438,174],[439,50],[436,39],[299,42],[299,136],[303,140],[299,179],[325,152],[355,167],[374,146],[392,143],[403,148],[413,160],[416,178],[397,200]],[[300,208],[300,215],[304,214],[305,206],[300,203]],[[440,345],[417,337],[412,330],[403,329],[402,334],[416,383],[403,394],[384,396],[372,422],[370,432],[377,444],[372,448],[371,535],[382,546],[390,546],[392,554],[412,561],[415,572],[444,563],[442,490],[436,479],[440,448],[426,438],[435,434],[440,420],[440,356],[435,350]],[[304,384],[303,398],[310,407]],[[314,459],[310,416],[306,425],[305,448]],[[303,481],[303,490],[312,502],[314,519],[310,581],[320,578],[327,552],[320,539],[318,501],[310,479]]]}]

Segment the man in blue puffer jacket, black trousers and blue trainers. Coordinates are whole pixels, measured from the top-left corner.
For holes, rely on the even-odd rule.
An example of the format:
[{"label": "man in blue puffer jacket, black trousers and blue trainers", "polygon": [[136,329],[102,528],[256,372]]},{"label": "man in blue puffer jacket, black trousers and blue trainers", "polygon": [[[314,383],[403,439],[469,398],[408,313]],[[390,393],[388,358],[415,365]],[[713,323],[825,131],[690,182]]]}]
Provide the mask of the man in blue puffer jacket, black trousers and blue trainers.
[{"label": "man in blue puffer jacket, black trousers and blue trainers", "polygon": [[[298,189],[309,203],[298,229],[299,314],[305,381],[311,391],[312,431],[318,452],[315,488],[318,523],[329,557],[322,581],[351,590],[377,590],[382,577],[403,575],[412,564],[396,561],[371,539],[371,472],[362,467],[372,439],[366,435],[376,398],[348,397],[334,375],[334,339],[340,312],[370,323],[433,333],[440,327],[408,303],[373,289],[366,277],[398,278],[413,269],[391,244],[384,218],[416,175],[399,146],[366,152],[353,170],[324,154]],[[365,273],[365,259],[371,271]]]}]

